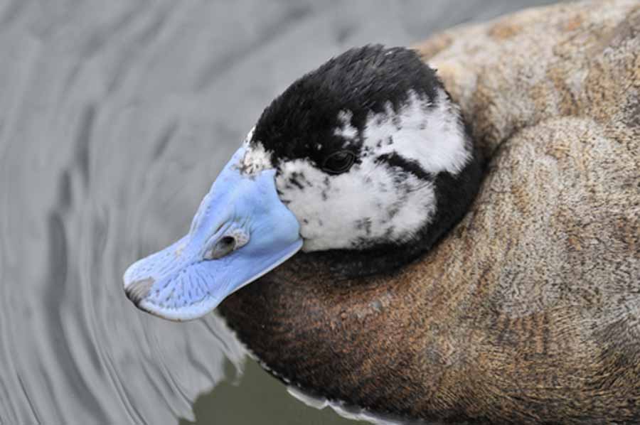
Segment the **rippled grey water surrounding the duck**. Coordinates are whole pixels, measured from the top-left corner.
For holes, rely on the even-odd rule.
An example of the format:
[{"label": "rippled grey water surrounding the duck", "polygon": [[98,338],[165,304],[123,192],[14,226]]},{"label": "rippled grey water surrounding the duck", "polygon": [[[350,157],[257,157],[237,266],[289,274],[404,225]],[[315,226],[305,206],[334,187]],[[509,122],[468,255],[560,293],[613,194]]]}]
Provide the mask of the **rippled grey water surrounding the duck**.
[{"label": "rippled grey water surrounding the duck", "polygon": [[352,45],[549,1],[0,0],[0,424],[350,424],[122,292],[262,108]]}]

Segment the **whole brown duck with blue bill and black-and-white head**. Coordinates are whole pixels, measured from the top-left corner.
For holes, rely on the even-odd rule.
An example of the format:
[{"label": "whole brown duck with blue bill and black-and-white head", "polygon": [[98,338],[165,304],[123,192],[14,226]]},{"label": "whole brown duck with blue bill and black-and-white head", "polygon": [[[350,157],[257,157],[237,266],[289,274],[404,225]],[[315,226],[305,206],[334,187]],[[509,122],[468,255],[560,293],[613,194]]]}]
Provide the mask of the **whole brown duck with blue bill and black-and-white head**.
[{"label": "whole brown duck with blue bill and black-and-white head", "polygon": [[640,421],[639,34],[636,2],[586,1],[346,50],[125,294],[401,421]]}]

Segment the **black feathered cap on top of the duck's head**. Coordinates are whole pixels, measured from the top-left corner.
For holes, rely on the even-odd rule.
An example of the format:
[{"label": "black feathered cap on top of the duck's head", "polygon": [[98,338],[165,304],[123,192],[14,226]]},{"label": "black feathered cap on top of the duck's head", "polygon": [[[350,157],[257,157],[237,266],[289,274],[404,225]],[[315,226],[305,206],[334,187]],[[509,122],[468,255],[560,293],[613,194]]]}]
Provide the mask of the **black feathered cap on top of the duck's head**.
[{"label": "black feathered cap on top of the duck's head", "polygon": [[[410,92],[433,101],[443,87],[434,70],[414,50],[366,45],[332,58],[295,81],[262,112],[252,141],[260,141],[281,158],[309,158],[320,166],[342,149],[345,140],[334,134],[348,112],[359,134],[370,112],[398,110]],[[432,102],[433,103],[433,102]],[[351,144],[358,154],[358,143]]]}]

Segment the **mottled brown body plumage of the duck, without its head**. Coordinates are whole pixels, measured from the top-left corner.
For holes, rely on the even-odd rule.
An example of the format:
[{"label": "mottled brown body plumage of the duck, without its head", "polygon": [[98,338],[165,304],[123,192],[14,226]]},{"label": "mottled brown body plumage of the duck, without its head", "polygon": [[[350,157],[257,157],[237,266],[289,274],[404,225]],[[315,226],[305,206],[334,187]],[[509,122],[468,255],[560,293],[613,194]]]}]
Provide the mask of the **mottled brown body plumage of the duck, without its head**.
[{"label": "mottled brown body plumage of the duck, without its head", "polygon": [[640,421],[640,3],[417,46],[486,158],[464,220],[395,274],[298,254],[220,306],[279,377],[444,421]]}]

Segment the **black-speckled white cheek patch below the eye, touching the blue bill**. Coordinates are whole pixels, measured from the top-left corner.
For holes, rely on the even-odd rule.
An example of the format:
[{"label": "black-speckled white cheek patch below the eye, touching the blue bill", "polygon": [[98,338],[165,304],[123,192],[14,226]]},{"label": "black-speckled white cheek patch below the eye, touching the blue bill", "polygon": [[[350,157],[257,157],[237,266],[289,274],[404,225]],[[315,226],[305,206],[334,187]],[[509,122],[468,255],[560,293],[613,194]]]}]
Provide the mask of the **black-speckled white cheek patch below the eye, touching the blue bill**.
[{"label": "black-speckled white cheek patch below the eye, touching the blue bill", "polygon": [[299,221],[306,252],[406,242],[435,212],[431,182],[374,158],[336,176],[306,160],[287,161],[276,185]]}]

